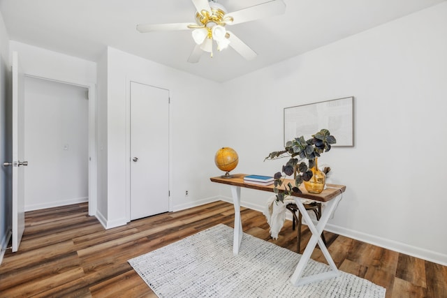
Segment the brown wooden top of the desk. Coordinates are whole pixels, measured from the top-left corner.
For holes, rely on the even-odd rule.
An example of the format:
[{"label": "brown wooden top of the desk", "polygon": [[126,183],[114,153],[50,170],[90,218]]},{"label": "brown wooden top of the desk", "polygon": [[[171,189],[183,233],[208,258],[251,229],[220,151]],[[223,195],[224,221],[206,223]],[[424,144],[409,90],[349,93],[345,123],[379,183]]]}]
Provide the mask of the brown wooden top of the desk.
[{"label": "brown wooden top of the desk", "polygon": [[[244,188],[253,188],[253,189],[257,189],[259,191],[273,192],[274,184],[270,184],[268,186],[263,186],[263,185],[258,185],[258,184],[249,184],[244,181],[245,176],[248,176],[248,174],[231,174],[231,178],[222,178],[221,176],[219,176],[219,177],[212,177],[210,179],[213,182],[217,182],[217,183],[221,183],[221,184],[240,186],[240,187],[244,187]],[[281,191],[281,189],[284,191],[284,186],[286,186],[288,184],[288,182],[290,182],[293,186],[295,186],[295,180],[285,179],[283,182],[283,185],[281,186],[279,191]],[[293,193],[293,195],[295,197],[299,197],[299,198],[306,198],[306,199],[316,200],[316,201],[320,201],[320,202],[328,202],[328,201],[332,200],[333,198],[337,197],[337,195],[339,195],[341,192],[344,192],[346,190],[346,186],[344,186],[344,185],[326,184],[326,186],[328,186],[328,187],[326,187],[325,190],[323,190],[321,193],[316,195],[314,193],[308,193],[306,191],[304,184],[301,184],[300,191],[302,191],[302,193]]]}]

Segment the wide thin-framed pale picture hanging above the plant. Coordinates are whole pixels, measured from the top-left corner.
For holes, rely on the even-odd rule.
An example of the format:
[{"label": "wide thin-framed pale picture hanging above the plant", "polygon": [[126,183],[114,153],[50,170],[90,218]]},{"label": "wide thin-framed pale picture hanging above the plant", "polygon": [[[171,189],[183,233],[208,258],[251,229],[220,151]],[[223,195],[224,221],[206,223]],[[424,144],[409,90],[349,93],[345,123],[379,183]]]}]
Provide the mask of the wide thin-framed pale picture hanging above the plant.
[{"label": "wide thin-framed pale picture hanging above the plant", "polygon": [[332,146],[354,146],[353,96],[284,108],[284,146],[301,135],[309,140],[323,128],[337,140]]}]

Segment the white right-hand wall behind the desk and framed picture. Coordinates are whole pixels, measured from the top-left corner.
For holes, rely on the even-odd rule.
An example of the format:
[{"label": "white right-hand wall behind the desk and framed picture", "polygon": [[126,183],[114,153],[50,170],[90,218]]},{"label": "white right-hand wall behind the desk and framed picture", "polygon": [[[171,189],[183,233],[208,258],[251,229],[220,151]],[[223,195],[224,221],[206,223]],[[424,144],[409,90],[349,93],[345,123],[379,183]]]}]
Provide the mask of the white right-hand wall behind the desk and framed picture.
[{"label": "white right-hand wall behind the desk and framed picture", "polygon": [[[355,96],[355,147],[320,158],[333,182],[347,186],[328,230],[447,264],[447,3],[224,87],[237,172],[257,174],[284,163],[263,162],[282,148],[284,107]],[[259,209],[267,197],[242,193]]]}]

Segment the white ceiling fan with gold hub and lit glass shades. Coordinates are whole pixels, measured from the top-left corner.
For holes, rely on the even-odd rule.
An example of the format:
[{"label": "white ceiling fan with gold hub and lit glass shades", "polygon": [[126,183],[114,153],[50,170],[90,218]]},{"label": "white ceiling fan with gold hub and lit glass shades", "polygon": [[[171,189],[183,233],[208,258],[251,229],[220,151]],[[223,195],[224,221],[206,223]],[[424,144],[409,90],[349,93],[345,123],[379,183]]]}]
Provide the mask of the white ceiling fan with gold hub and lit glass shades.
[{"label": "white ceiling fan with gold hub and lit glass shades", "polygon": [[192,37],[196,43],[188,61],[197,63],[203,51],[209,52],[212,57],[213,41],[217,50],[223,50],[230,46],[247,60],[257,56],[254,50],[237,38],[231,31],[226,30],[226,25],[240,24],[263,17],[280,15],[286,11],[286,4],[282,0],[270,0],[265,3],[251,6],[233,13],[228,13],[226,8],[217,3],[217,0],[191,0],[196,6],[196,22],[172,23],[172,24],[138,24],[137,30],[145,33],[152,31],[175,31],[193,29]]}]

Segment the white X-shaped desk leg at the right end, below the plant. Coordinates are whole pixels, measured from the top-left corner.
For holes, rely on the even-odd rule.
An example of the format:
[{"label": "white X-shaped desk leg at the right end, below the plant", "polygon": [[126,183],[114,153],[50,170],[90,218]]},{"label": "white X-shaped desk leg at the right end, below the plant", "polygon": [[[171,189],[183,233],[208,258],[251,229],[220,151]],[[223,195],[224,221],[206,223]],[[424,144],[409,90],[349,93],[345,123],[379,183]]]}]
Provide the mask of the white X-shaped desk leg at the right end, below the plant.
[{"label": "white X-shaped desk leg at the right end, below the plant", "polygon": [[[307,223],[309,230],[312,232],[312,237],[309,239],[309,243],[307,244],[305,251],[300,258],[300,262],[298,262],[295,272],[293,272],[292,274],[291,283],[293,285],[295,286],[305,285],[307,283],[313,283],[315,281],[323,281],[328,278],[339,276],[337,266],[332,260],[328,248],[326,248],[323,240],[321,239],[321,233],[323,232],[326,223],[328,223],[329,221],[330,215],[332,214],[332,212],[335,211],[335,208],[337,207],[337,204],[340,200],[342,200],[342,196],[338,195],[336,198],[326,203],[325,212],[323,212],[323,215],[318,221],[318,224],[315,226],[314,222],[307,213],[306,208],[302,204],[300,198],[295,198],[295,203],[298,206],[298,209],[300,210],[302,217],[305,218],[305,222]],[[312,276],[303,277],[302,274],[305,271],[305,267],[310,260],[310,256],[312,255],[312,251],[314,251],[317,242],[318,246],[320,246],[321,252],[323,253],[325,259],[328,261],[331,270],[320,274],[314,274]]]}]

